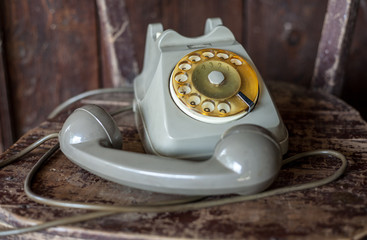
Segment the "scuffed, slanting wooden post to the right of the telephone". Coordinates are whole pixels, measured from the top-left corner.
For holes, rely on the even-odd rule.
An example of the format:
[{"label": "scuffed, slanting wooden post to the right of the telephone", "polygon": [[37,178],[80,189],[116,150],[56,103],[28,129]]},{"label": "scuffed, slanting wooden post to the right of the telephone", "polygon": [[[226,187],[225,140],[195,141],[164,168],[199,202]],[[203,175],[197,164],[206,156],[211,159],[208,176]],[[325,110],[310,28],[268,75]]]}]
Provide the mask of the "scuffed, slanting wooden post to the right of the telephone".
[{"label": "scuffed, slanting wooden post to the right of the telephone", "polygon": [[340,95],[359,0],[329,0],[311,87]]}]

